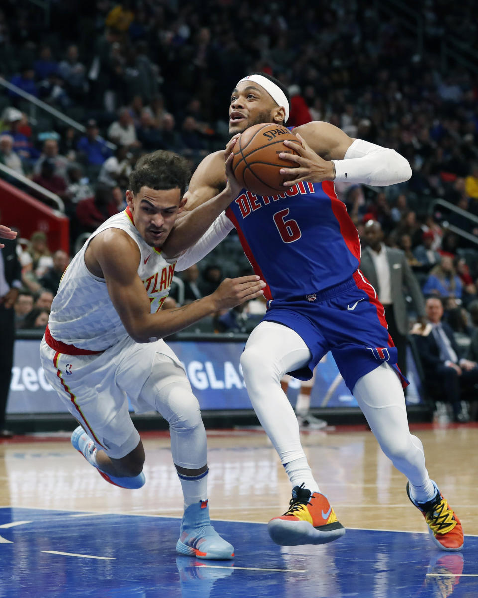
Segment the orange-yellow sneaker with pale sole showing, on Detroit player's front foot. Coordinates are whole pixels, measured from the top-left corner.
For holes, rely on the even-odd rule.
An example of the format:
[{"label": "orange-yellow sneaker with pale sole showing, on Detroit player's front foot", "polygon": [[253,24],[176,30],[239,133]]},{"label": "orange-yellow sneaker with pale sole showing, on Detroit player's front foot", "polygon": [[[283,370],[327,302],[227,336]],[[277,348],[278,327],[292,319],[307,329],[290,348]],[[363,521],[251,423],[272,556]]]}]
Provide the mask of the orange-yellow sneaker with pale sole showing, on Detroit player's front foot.
[{"label": "orange-yellow sneaker with pale sole showing, on Detroit player's front foot", "polygon": [[275,544],[325,544],[344,535],[344,526],[323,494],[311,493],[302,484],[292,490],[289,505],[287,512],[268,523],[269,535]]}]

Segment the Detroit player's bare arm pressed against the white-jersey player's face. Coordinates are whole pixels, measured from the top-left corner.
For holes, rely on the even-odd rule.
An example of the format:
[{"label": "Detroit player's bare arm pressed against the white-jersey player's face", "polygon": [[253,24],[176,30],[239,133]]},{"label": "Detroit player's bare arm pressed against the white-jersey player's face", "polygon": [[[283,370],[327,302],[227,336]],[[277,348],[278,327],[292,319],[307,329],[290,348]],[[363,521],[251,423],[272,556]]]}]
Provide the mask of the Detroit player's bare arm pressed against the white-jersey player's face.
[{"label": "Detroit player's bare arm pressed against the white-jersey player's face", "polygon": [[[241,191],[240,185],[235,181],[231,171],[232,148],[238,135],[229,139],[224,152],[219,152],[214,160],[208,160],[206,164],[201,163],[189,184],[189,190],[185,194],[189,198],[193,195],[194,189],[197,190],[198,184],[202,190],[200,194],[203,202],[195,203],[195,207],[186,212],[181,218],[178,218],[174,224],[173,230],[164,242],[163,251],[166,255],[179,255],[180,252],[188,249],[196,243],[210,225],[215,221]],[[210,172],[212,170],[213,172]],[[216,173],[217,170],[217,173]],[[217,181],[227,178],[225,188],[217,193],[212,184],[217,185]],[[191,188],[192,187],[192,188]],[[209,190],[209,191],[208,191]],[[211,196],[208,193],[213,193]],[[188,205],[186,202],[186,206]]]}]

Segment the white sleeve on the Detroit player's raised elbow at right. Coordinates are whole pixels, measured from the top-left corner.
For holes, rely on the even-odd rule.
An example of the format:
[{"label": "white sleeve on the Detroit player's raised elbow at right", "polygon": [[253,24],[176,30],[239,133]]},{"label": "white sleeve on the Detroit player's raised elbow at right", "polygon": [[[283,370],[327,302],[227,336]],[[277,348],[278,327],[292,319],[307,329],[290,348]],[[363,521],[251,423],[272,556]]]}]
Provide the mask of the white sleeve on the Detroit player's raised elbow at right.
[{"label": "white sleeve on the Detroit player's raised elbow at right", "polygon": [[364,183],[387,187],[408,181],[412,169],[408,161],[394,149],[355,139],[345,152],[344,160],[335,164],[335,181]]}]

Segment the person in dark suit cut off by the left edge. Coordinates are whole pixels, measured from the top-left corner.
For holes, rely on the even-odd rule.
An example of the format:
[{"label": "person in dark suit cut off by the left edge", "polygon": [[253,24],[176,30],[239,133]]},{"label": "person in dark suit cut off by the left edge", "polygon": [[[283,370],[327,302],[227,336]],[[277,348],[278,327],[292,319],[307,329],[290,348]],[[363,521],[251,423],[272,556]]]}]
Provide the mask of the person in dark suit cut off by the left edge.
[{"label": "person in dark suit cut off by the left edge", "polygon": [[5,430],[8,392],[10,391],[15,341],[13,306],[22,286],[22,266],[17,255],[16,239],[6,239],[0,250],[0,438],[12,436]]}]

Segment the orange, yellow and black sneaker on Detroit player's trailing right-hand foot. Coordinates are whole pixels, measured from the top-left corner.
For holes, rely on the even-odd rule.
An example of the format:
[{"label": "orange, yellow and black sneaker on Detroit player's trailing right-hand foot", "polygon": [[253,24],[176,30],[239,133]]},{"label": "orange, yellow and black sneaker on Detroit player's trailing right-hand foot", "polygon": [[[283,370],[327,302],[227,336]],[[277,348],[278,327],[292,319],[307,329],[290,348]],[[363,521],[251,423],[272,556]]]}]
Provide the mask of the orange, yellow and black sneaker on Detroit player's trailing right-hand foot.
[{"label": "orange, yellow and black sneaker on Detroit player's trailing right-hand foot", "polygon": [[410,496],[410,483],[407,483],[407,495],[413,505],[418,508],[428,526],[431,539],[442,550],[461,550],[463,547],[463,529],[453,509],[440,494],[436,483],[431,482],[436,489],[435,496],[428,502],[416,502]]}]

